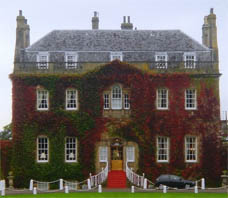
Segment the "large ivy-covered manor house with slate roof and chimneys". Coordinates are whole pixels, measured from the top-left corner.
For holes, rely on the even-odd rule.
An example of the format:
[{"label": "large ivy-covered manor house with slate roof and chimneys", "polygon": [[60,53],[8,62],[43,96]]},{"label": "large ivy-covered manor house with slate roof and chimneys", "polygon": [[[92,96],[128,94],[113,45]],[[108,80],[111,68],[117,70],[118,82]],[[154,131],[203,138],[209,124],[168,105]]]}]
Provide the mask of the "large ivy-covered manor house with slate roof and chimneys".
[{"label": "large ivy-covered manor house with slate roof and chimneys", "polygon": [[202,44],[181,30],[54,30],[30,45],[17,16],[11,159],[15,186],[80,181],[126,165],[217,181],[221,172],[216,15]]}]

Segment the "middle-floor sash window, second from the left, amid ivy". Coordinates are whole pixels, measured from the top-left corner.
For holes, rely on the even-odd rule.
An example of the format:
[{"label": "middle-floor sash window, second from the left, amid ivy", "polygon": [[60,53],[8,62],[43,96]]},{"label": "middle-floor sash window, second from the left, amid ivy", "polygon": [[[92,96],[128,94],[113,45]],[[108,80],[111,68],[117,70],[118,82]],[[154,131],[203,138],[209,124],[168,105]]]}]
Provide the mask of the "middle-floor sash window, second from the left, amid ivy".
[{"label": "middle-floor sash window, second from the left, amid ivy", "polygon": [[76,110],[77,109],[78,94],[75,89],[66,90],[66,109]]}]

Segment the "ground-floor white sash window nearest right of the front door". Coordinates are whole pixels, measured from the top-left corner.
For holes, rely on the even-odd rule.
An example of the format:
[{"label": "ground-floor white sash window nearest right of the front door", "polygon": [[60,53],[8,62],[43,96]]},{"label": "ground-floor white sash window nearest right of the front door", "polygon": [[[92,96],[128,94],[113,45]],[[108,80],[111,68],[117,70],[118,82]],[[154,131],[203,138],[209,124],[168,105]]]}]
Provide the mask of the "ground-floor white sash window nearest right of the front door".
[{"label": "ground-floor white sash window nearest right of the front door", "polygon": [[169,139],[167,137],[157,138],[157,161],[169,161]]}]

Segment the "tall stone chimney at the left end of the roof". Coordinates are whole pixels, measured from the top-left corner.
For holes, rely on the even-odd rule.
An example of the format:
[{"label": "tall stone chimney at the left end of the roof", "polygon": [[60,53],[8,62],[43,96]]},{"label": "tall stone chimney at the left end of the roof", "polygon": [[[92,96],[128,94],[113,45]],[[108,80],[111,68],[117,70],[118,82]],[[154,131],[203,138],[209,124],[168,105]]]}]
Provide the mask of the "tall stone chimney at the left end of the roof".
[{"label": "tall stone chimney at the left end of the roof", "polygon": [[20,61],[20,53],[22,49],[27,48],[30,45],[30,28],[27,24],[27,19],[22,15],[22,11],[19,10],[19,16],[17,16],[17,29],[16,29],[16,45],[14,61]]}]

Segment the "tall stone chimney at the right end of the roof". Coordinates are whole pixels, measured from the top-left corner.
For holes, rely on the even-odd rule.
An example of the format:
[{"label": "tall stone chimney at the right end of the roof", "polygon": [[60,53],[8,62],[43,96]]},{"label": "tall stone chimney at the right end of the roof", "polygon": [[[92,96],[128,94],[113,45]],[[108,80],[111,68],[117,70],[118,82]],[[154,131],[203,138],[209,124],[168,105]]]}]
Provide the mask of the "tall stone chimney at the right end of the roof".
[{"label": "tall stone chimney at the right end of the roof", "polygon": [[202,42],[204,45],[214,50],[214,61],[218,61],[216,15],[214,14],[213,8],[211,8],[210,14],[204,17]]}]

